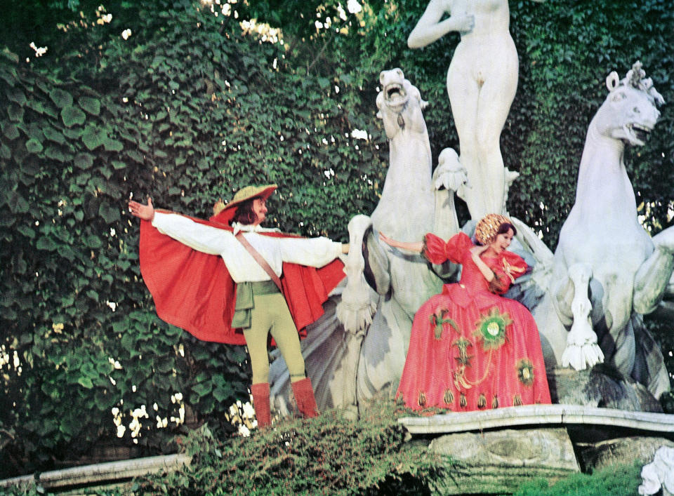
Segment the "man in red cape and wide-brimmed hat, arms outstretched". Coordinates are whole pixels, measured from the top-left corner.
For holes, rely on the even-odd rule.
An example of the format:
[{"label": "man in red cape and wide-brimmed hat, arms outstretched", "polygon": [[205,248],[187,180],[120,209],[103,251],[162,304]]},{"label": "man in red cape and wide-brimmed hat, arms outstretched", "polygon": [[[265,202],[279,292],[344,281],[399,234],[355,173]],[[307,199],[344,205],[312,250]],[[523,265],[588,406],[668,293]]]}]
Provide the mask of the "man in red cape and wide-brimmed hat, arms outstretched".
[{"label": "man in red cape and wide-brimmed hat, arms outstretched", "polygon": [[[208,221],[154,210],[151,199],[147,205],[129,202],[131,213],[142,220],[140,272],[157,315],[199,340],[248,344],[259,427],[271,421],[270,331],[289,363],[300,412],[317,415],[297,330],[305,335],[304,328],[323,314],[322,304],[344,277],[336,256],[348,251],[347,245],[326,238],[303,239],[260,227],[275,189],[245,187],[227,206],[216,204],[216,215]],[[248,327],[239,327],[242,322]]]}]

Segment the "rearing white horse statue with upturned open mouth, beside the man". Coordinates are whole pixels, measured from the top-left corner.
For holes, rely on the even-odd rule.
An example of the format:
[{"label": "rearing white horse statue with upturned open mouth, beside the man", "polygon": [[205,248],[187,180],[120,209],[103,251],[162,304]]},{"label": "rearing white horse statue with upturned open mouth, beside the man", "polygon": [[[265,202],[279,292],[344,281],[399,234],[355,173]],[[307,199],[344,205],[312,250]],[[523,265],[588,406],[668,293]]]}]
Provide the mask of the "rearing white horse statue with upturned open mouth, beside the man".
[{"label": "rearing white horse statue with upturned open mouth, beside the man", "polygon": [[[404,255],[380,243],[378,232],[418,241],[427,232],[449,238],[459,230],[454,192],[465,187],[465,169],[452,149],[432,156],[422,110],[428,105],[402,70],[380,74],[377,96],[390,146],[381,199],[371,217],[349,223],[351,250],[341,298],[326,306],[303,342],[319,408],[343,407],[357,414],[359,401],[397,385],[404,367],[412,320],[418,307],[442,288],[456,267],[430,267],[420,255]],[[336,305],[336,306],[335,306]],[[275,405],[282,413],[286,378],[282,360],[272,363]]]}]

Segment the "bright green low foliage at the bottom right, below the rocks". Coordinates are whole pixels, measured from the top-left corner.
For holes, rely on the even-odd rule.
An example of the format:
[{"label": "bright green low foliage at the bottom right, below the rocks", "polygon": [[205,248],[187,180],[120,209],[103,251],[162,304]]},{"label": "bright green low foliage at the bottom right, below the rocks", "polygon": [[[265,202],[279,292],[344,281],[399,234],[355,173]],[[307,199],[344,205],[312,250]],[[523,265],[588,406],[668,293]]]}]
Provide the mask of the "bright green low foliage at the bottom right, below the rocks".
[{"label": "bright green low foliage at the bottom right, below the rocks", "polygon": [[576,474],[552,486],[540,478],[522,485],[515,496],[624,496],[637,494],[641,464],[612,465],[595,474]]}]

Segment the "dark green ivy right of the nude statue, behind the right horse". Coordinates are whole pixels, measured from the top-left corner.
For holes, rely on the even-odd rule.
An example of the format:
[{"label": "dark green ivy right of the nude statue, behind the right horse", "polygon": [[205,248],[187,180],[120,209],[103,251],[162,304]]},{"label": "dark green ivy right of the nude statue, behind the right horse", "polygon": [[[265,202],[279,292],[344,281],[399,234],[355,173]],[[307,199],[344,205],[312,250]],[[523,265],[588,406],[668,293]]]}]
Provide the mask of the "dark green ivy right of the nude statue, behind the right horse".
[{"label": "dark green ivy right of the nude statue, behind the right horse", "polygon": [[[620,2],[606,9],[593,2],[517,4],[513,25],[522,29],[513,29],[513,34],[523,84],[510,121],[529,123],[524,133],[512,122],[504,130],[506,165],[521,174],[508,205],[510,213],[542,229],[553,247],[574,203],[585,133],[607,95],[606,76],[615,70],[624,77],[633,62],[641,60],[654,86],[672,101],[674,80],[667,67],[674,58],[665,47],[674,13],[663,0]],[[626,153],[637,203],[654,203],[645,222],[655,231],[666,227],[672,201],[668,185],[674,180],[671,109],[663,107],[662,112],[647,145]],[[522,147],[520,163],[508,153],[514,142]]]}]

